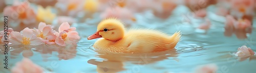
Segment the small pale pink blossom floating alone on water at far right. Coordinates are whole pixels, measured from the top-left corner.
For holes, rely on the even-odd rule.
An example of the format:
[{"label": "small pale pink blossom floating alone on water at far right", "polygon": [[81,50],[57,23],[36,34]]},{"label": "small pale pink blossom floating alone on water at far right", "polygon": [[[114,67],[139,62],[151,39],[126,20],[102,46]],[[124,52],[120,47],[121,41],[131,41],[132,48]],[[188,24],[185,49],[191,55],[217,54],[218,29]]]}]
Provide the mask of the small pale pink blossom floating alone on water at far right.
[{"label": "small pale pink blossom floating alone on water at far right", "polygon": [[254,55],[255,53],[251,50],[250,47],[247,47],[245,45],[241,46],[238,48],[238,52],[235,54],[236,56],[239,57],[248,57],[251,55]]}]

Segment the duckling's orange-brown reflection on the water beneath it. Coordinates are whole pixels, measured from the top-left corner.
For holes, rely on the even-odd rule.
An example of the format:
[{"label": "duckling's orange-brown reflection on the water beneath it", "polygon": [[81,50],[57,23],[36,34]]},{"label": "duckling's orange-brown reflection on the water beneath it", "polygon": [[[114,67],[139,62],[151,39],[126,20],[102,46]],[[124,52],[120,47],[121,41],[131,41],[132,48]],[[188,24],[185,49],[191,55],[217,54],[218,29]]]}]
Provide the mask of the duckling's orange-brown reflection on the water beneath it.
[{"label": "duckling's orange-brown reflection on the water beneath it", "polygon": [[98,52],[99,57],[106,59],[104,61],[97,61],[91,59],[88,61],[90,64],[97,65],[97,72],[99,73],[113,73],[126,70],[124,68],[125,62],[132,62],[133,64],[145,65],[155,63],[167,59],[167,57],[177,57],[178,53],[176,50],[168,50],[157,53],[146,53],[146,54],[124,54],[124,53],[107,53]]}]

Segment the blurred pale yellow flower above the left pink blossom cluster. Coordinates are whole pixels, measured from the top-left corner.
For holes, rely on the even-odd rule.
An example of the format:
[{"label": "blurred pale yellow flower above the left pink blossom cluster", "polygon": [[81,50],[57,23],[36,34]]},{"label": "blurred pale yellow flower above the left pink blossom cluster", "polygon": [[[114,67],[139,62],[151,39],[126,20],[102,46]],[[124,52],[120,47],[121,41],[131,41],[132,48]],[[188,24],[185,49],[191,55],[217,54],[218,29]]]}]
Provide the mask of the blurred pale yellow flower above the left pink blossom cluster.
[{"label": "blurred pale yellow flower above the left pink blossom cluster", "polygon": [[42,6],[38,6],[36,19],[37,21],[46,22],[47,24],[52,24],[53,19],[56,17],[56,14],[52,13],[51,7],[46,9]]}]

